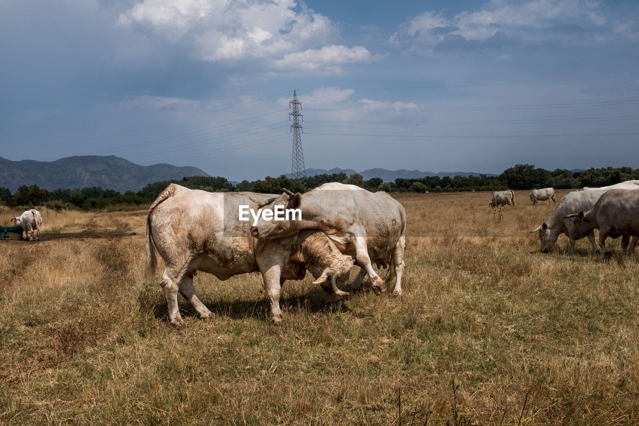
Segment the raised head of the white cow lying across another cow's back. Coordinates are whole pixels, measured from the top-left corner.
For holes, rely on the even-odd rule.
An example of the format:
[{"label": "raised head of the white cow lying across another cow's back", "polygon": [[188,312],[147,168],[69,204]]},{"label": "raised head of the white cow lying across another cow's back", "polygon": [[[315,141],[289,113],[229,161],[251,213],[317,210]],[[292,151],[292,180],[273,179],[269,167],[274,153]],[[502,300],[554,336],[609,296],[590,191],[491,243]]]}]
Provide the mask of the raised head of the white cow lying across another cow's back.
[{"label": "raised head of the white cow lying across another cow's back", "polygon": [[[302,205],[302,194],[293,194],[286,188],[282,189],[282,191],[282,195],[275,198],[274,201],[265,206],[260,206],[262,209],[262,214],[259,217],[257,223],[250,227],[250,235],[259,239],[270,239],[288,237],[289,235],[293,235],[300,230],[300,227],[296,224],[296,222],[299,221],[300,217],[297,214],[291,213],[288,215],[287,218],[286,210],[299,209],[300,205]],[[284,220],[275,220],[275,206],[284,206]],[[273,214],[270,215],[270,220],[265,219],[264,212],[266,210],[270,210],[271,212],[273,212]]]}]

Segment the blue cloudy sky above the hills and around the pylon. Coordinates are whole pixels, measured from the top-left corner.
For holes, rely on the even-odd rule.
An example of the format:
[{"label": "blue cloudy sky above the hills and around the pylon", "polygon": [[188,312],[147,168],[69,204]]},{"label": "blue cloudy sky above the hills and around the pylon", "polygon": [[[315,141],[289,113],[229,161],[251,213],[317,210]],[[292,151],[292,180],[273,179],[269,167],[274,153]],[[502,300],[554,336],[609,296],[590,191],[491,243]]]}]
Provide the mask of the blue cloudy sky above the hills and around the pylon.
[{"label": "blue cloudy sky above the hills and around the pylon", "polygon": [[0,0],[0,156],[639,168],[635,0]]}]

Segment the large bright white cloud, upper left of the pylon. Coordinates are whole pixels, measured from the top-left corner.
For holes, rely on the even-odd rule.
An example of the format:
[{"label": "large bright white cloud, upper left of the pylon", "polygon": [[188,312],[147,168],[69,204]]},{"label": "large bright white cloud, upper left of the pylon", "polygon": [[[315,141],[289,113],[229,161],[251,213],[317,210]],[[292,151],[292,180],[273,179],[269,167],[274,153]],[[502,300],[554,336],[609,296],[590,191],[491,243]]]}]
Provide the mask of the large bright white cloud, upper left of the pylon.
[{"label": "large bright white cloud, upper left of the pylon", "polygon": [[265,59],[279,68],[341,72],[337,65],[371,57],[364,47],[330,45],[339,28],[294,0],[143,0],[118,24],[161,35],[204,61]]}]

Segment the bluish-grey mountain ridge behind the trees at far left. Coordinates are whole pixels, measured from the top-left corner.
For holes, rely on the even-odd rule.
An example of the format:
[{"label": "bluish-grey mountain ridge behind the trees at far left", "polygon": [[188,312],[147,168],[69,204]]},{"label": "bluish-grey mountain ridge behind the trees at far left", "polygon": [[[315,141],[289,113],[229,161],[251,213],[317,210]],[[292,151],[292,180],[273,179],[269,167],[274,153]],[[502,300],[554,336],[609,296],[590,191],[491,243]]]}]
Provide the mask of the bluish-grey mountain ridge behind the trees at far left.
[{"label": "bluish-grey mountain ridge behind the trees at far left", "polygon": [[171,164],[140,166],[115,155],[85,155],[56,161],[10,161],[0,157],[0,187],[12,193],[20,185],[38,185],[44,189],[100,186],[120,193],[139,191],[159,180],[186,176],[210,176],[197,167]]}]

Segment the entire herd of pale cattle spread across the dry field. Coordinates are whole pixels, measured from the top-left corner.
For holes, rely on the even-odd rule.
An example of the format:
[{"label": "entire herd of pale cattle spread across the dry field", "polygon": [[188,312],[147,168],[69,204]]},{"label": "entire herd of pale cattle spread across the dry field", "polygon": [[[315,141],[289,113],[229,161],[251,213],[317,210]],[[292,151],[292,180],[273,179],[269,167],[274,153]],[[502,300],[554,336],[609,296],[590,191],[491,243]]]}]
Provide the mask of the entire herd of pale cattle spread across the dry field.
[{"label": "entire herd of pale cattle spread across the dry field", "polygon": [[[607,237],[622,236],[622,251],[633,253],[639,239],[639,180],[601,188],[583,188],[561,198],[550,218],[532,230],[539,232],[540,249],[547,253],[562,233],[574,242],[586,237],[597,253],[594,230],[599,229],[599,247],[604,256]],[[530,200],[555,202],[552,188],[537,189]],[[514,192],[497,191],[489,204],[514,206]],[[238,216],[240,207],[258,210],[254,223]],[[269,220],[277,209],[301,210],[301,219]],[[42,217],[27,210],[13,217],[29,240],[39,240]],[[300,194],[284,189],[281,195],[257,193],[209,193],[170,184],[151,203],[146,220],[146,272],[155,274],[155,250],[164,260],[160,280],[167,302],[169,321],[181,326],[178,292],[201,318],[213,314],[197,298],[193,277],[198,271],[227,280],[237,274],[260,272],[270,299],[272,320],[282,322],[279,305],[286,280],[301,280],[306,271],[320,285],[325,299],[341,306],[348,292],[340,289],[353,265],[360,271],[351,290],[362,286],[368,275],[374,292],[386,290],[375,272],[390,266],[385,278],[395,278],[393,294],[401,296],[404,272],[406,212],[389,194],[371,193],[355,185],[324,184]],[[632,239],[632,241],[631,241]]]}]

